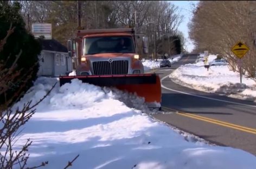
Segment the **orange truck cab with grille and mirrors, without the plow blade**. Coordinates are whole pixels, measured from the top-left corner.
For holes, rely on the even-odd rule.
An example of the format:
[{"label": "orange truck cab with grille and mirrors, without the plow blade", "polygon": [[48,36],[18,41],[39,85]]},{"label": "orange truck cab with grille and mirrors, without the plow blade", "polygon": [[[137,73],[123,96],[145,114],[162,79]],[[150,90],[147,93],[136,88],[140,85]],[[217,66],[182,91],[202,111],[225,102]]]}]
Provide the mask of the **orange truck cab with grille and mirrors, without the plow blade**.
[{"label": "orange truck cab with grille and mirrors, without the plow blade", "polygon": [[[132,28],[80,30],[78,35],[80,37],[75,41],[79,62],[76,75],[144,74],[141,56],[137,53],[138,41]],[[147,38],[142,40],[144,53],[147,53]],[[69,43],[71,51],[73,45]]]}]

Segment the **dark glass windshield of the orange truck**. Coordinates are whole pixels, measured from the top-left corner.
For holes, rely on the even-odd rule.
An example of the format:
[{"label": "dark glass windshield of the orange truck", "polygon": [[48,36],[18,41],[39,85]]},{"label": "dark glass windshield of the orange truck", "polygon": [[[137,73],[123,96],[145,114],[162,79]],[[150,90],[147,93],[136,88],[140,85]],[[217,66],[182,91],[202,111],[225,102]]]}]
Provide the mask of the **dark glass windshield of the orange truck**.
[{"label": "dark glass windshield of the orange truck", "polygon": [[135,53],[131,36],[87,37],[84,39],[84,54]]}]

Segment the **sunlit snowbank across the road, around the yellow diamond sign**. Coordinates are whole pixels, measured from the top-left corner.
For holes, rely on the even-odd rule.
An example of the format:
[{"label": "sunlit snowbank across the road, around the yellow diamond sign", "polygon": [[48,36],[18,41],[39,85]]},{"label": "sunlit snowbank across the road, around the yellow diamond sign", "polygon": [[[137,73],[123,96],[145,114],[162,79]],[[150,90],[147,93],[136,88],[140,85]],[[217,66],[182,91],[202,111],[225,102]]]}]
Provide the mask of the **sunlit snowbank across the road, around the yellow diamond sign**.
[{"label": "sunlit snowbank across the road, around the yellow diamond sign", "polygon": [[[216,59],[216,55],[209,55],[209,62]],[[228,66],[212,66],[207,71],[202,58],[194,64],[185,64],[170,74],[170,77],[180,85],[204,92],[225,94],[233,98],[256,101],[256,82],[242,77],[228,69]]]}]

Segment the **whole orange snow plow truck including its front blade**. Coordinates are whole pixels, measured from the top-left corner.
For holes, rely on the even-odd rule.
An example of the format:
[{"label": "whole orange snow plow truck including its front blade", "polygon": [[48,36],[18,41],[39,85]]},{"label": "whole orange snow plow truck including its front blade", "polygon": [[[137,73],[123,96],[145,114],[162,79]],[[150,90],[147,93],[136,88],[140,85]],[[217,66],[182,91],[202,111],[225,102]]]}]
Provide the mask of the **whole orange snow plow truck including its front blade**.
[{"label": "whole orange snow plow truck including its front blade", "polygon": [[[60,86],[79,79],[101,87],[136,93],[161,109],[161,82],[155,73],[145,74],[138,55],[138,41],[148,53],[148,39],[135,36],[134,28],[77,30],[68,41],[69,56],[77,59],[75,76],[60,76]],[[140,50],[142,51],[142,50]]]}]

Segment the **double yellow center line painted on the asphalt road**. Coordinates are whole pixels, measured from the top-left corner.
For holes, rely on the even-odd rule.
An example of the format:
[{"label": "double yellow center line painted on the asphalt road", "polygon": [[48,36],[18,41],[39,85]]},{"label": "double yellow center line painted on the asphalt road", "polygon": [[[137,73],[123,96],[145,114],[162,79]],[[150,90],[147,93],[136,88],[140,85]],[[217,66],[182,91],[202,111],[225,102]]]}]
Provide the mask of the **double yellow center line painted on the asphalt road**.
[{"label": "double yellow center line painted on the asphalt road", "polygon": [[[172,111],[176,111],[174,109],[170,109],[170,108],[167,108],[167,107],[163,107],[163,108],[164,109],[169,109],[169,110],[172,110]],[[190,113],[178,112],[176,114],[186,116],[188,118],[193,118],[193,119],[197,119],[197,120],[201,120],[201,121],[206,121],[206,122],[216,124],[216,125],[219,125],[219,126],[225,126],[225,127],[228,127],[228,128],[238,129],[238,130],[243,131],[243,132],[256,134],[256,129],[255,128],[239,126],[239,125],[231,124],[231,123],[228,123],[228,122],[225,122],[225,121],[210,119],[210,118],[206,118],[206,117],[203,117],[203,116],[194,115],[194,114],[190,114]]]}]

